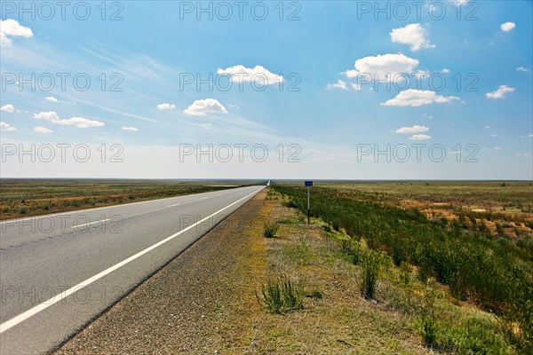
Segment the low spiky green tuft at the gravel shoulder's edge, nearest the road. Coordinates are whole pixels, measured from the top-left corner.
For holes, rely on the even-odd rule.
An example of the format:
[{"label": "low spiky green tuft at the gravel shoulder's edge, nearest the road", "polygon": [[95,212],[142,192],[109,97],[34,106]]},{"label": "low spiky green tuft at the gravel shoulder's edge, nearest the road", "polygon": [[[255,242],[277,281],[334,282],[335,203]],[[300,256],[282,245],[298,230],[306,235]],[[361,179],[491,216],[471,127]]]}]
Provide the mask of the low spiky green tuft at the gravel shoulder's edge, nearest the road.
[{"label": "low spiky green tuft at the gravel shoulder's edge, nearest the road", "polygon": [[287,277],[271,279],[261,286],[261,295],[256,293],[259,304],[268,312],[282,313],[304,308],[301,285]]}]

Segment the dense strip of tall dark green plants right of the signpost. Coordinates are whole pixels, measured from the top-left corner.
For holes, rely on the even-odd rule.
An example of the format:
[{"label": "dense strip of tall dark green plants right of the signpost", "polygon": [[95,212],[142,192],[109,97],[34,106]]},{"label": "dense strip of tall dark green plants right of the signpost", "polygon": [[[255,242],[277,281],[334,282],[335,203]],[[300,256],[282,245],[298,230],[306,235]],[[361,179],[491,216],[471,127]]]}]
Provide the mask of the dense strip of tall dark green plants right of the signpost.
[{"label": "dense strip of tall dark green plants right of the signpost", "polygon": [[[289,197],[287,206],[306,211],[305,188],[274,189]],[[495,312],[508,343],[519,351],[532,351],[533,265],[527,259],[533,250],[457,225],[434,224],[417,209],[360,201],[331,188],[317,186],[313,192],[313,217],[385,252],[396,266],[414,264],[420,280],[434,278],[448,285],[457,300]]]}]

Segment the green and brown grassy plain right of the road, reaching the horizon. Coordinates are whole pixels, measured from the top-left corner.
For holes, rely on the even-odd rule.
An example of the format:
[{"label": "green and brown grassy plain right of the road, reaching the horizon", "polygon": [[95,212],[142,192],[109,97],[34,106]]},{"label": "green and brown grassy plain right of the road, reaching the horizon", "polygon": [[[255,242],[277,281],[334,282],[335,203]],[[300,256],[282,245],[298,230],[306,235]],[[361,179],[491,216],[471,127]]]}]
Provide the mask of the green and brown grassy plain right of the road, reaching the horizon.
[{"label": "green and brown grassy plain right of the road, reaching the horizon", "polygon": [[[273,188],[306,213],[305,187]],[[381,297],[410,314],[428,346],[459,353],[533,351],[532,200],[529,182],[318,184],[311,198],[326,232],[346,234],[338,242],[363,298]],[[380,270],[386,296],[372,287]]]}]

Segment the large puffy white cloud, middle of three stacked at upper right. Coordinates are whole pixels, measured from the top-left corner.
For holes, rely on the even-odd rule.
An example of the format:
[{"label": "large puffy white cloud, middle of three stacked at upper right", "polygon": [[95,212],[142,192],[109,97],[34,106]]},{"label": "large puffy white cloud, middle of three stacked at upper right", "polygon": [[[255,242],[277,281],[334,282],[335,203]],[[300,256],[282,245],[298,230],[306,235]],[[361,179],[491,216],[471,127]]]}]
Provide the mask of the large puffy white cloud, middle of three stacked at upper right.
[{"label": "large puffy white cloud, middle of three stacked at upper right", "polygon": [[355,60],[355,69],[347,70],[344,74],[348,78],[370,75],[372,79],[378,76],[379,80],[393,80],[395,75],[413,73],[418,64],[418,59],[412,59],[402,53],[378,54],[376,57]]}]

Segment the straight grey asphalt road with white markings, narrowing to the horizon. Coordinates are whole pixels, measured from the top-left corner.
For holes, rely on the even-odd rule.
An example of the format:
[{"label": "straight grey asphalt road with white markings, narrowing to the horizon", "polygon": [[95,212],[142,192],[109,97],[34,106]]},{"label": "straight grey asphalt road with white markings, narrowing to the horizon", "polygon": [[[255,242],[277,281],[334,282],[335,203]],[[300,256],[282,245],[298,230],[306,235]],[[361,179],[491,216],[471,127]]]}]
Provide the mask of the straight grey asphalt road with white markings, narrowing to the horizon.
[{"label": "straight grey asphalt road with white markings, narrowing to the horizon", "polygon": [[53,350],[263,187],[0,224],[0,354]]}]

